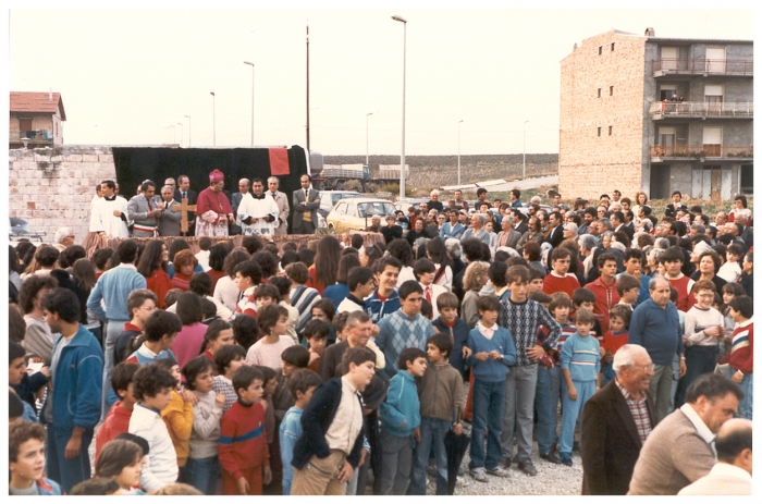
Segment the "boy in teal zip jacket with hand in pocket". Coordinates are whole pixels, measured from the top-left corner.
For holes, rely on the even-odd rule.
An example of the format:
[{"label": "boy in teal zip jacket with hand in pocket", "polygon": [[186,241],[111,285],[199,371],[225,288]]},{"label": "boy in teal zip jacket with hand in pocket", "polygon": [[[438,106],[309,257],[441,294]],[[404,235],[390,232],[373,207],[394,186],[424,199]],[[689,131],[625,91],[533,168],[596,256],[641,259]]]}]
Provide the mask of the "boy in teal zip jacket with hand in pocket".
[{"label": "boy in teal zip jacket with hand in pocket", "polygon": [[426,372],[426,352],[405,348],[400,353],[400,371],[389,382],[381,405],[381,494],[405,495],[410,483],[413,443],[420,441],[420,401],[416,378]]}]

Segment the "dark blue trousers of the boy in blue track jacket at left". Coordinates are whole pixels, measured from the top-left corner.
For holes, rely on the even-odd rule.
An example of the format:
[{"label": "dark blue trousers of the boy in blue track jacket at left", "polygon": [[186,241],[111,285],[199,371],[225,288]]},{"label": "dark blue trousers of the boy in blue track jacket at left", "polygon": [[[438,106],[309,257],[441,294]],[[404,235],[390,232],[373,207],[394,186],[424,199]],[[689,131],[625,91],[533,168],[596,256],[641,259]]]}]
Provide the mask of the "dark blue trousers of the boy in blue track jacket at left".
[{"label": "dark blue trousers of the boy in blue track jacket at left", "polygon": [[87,450],[93,441],[93,429],[87,429],[82,434],[79,454],[75,458],[64,456],[72,429],[48,426],[47,430],[45,471],[48,478],[61,484],[61,490],[69,493],[75,484],[90,479],[90,456]]}]

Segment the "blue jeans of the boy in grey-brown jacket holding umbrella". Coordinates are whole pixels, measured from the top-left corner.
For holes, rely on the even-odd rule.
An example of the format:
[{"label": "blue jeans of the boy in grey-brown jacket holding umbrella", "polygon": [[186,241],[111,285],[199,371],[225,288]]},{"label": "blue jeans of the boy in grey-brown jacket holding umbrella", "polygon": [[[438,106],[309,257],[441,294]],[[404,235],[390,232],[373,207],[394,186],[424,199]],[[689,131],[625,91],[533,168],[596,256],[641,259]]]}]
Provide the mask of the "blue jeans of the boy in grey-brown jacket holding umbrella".
[{"label": "blue jeans of the boy in grey-brown jacket holding umbrella", "polygon": [[432,446],[437,463],[437,495],[447,495],[447,452],[444,448],[444,434],[448,430],[447,420],[431,417],[420,419],[420,441],[413,460],[413,478],[407,489],[409,495],[426,495],[426,468]]}]

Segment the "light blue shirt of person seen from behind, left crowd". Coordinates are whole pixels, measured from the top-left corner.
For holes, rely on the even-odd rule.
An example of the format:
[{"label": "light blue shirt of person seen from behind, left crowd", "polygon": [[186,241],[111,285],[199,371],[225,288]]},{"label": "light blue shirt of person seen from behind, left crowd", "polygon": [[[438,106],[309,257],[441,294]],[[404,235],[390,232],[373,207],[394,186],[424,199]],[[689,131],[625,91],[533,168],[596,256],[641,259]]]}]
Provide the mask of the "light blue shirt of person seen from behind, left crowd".
[{"label": "light blue shirt of person seen from behind, left crowd", "polygon": [[[101,322],[114,322],[132,319],[127,312],[127,297],[137,288],[146,288],[146,278],[134,268],[120,265],[101,274],[87,298],[87,308]],[[100,300],[106,304],[106,311]]]}]

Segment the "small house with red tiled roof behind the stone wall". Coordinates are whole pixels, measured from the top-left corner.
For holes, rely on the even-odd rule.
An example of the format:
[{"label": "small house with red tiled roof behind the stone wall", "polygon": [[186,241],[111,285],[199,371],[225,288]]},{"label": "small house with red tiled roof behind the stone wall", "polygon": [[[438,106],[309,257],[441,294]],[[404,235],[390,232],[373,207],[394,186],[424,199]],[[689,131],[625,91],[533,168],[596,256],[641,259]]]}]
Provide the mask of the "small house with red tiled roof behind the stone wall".
[{"label": "small house with red tiled roof behind the stone wall", "polygon": [[60,93],[11,91],[9,148],[57,147],[63,144],[66,112]]}]

